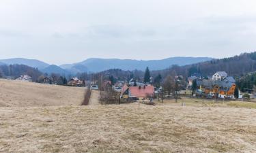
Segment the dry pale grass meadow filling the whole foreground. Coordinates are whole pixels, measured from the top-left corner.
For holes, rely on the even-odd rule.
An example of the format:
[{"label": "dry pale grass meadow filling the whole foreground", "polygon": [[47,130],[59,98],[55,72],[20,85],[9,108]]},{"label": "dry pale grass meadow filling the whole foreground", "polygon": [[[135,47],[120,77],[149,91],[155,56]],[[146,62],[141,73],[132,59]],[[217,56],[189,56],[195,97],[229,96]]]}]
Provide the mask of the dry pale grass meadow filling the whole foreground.
[{"label": "dry pale grass meadow filling the whole foreground", "polygon": [[0,107],[0,152],[256,152],[256,103],[70,103]]}]

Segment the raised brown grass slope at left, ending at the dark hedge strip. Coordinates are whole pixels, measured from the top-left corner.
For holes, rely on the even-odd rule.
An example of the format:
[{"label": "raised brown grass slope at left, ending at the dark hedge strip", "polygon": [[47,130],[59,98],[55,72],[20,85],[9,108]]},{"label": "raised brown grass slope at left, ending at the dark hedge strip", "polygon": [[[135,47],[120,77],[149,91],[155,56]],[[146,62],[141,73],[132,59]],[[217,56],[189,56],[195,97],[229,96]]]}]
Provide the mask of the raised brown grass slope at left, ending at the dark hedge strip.
[{"label": "raised brown grass slope at left, ending at the dark hedge strip", "polygon": [[81,105],[85,88],[0,79],[0,107]]}]

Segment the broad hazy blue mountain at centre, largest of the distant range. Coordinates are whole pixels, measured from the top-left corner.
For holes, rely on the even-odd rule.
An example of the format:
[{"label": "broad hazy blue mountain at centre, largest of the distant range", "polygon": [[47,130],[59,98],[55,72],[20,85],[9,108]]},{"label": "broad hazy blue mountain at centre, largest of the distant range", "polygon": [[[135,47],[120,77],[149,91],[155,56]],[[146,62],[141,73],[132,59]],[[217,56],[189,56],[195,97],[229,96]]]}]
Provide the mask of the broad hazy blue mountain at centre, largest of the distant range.
[{"label": "broad hazy blue mountain at centre, largest of the distant range", "polygon": [[89,58],[80,63],[70,65],[60,65],[63,69],[72,69],[76,65],[83,65],[87,67],[87,71],[98,72],[106,69],[122,69],[122,70],[142,70],[150,67],[150,70],[166,69],[172,65],[190,65],[204,61],[210,61],[212,58],[208,57],[171,57],[162,60],[138,61],[130,59],[104,59],[104,58]]}]

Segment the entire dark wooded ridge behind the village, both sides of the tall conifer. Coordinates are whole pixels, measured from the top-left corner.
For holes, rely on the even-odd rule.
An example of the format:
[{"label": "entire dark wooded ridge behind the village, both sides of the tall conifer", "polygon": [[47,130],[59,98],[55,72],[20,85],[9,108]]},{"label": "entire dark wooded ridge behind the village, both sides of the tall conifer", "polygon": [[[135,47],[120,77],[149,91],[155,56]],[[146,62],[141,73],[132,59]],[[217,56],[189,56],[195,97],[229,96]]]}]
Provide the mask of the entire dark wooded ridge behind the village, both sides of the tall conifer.
[{"label": "entire dark wooded ridge behind the village, both sides of the tall conifer", "polygon": [[[229,75],[233,75],[234,77],[241,77],[246,75],[246,73],[254,72],[256,71],[256,52],[181,67],[173,65],[169,69],[151,71],[151,75],[153,78],[156,78],[158,74],[162,75],[162,78],[166,78],[167,75],[183,75],[185,78],[188,78],[194,73],[200,73],[202,76],[206,77],[213,75],[216,71],[226,71]],[[121,69],[110,69],[108,71],[102,71],[101,73],[113,75],[115,78],[121,80],[128,80],[130,75],[143,80],[144,76],[144,72],[138,70],[122,71]]]}]

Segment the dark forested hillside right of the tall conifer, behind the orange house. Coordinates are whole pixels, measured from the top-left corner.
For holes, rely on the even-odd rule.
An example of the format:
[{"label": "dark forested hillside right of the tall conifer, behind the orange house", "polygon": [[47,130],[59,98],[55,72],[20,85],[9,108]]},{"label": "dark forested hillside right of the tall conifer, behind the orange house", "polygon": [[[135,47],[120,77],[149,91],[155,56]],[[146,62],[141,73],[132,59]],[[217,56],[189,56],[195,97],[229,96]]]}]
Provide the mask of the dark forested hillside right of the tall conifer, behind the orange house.
[{"label": "dark forested hillside right of the tall conifer, behind the orange house", "polygon": [[173,66],[169,69],[153,71],[152,75],[183,75],[188,77],[193,73],[201,73],[203,76],[209,76],[216,71],[226,71],[229,75],[242,76],[249,72],[256,71],[256,52],[243,53],[231,58],[214,59],[203,63],[186,65],[183,67]]}]

